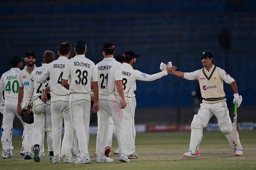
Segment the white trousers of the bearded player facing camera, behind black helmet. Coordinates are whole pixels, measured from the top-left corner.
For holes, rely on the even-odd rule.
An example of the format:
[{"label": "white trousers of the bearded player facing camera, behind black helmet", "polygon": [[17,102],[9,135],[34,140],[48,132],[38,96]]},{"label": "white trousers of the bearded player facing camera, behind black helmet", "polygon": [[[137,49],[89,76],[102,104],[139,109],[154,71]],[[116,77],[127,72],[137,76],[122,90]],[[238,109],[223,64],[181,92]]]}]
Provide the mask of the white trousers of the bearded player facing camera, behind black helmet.
[{"label": "white trousers of the bearded player facing camera, behind black helmet", "polygon": [[[22,109],[27,106],[29,101],[23,101]],[[25,122],[24,122],[25,123]],[[33,140],[33,129],[34,123],[25,123],[25,133],[24,133],[24,150],[25,152],[31,153],[32,140]]]}]

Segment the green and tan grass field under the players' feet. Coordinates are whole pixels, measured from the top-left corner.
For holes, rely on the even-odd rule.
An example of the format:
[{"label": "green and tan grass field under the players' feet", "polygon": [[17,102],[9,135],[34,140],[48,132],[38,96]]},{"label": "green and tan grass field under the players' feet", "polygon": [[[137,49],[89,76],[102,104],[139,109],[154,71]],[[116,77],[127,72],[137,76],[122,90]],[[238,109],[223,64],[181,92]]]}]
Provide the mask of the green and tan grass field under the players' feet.
[{"label": "green and tan grass field under the players' feet", "polygon": [[[256,131],[239,131],[240,141],[244,146],[244,155],[235,157],[234,151],[221,131],[205,131],[200,144],[199,158],[186,158],[182,154],[187,152],[190,141],[190,132],[163,132],[137,134],[136,152],[140,156],[130,163],[118,161],[119,155],[111,154],[112,163],[96,163],[96,135],[90,136],[89,152],[91,164],[75,165],[74,163],[52,164],[48,162],[47,154],[39,163],[33,160],[24,160],[19,155],[21,137],[13,137],[13,158],[0,159],[1,170],[255,170],[256,169]],[[113,140],[112,151],[116,150],[117,143]],[[45,149],[47,143],[45,140]],[[61,160],[62,161],[62,160]]]}]

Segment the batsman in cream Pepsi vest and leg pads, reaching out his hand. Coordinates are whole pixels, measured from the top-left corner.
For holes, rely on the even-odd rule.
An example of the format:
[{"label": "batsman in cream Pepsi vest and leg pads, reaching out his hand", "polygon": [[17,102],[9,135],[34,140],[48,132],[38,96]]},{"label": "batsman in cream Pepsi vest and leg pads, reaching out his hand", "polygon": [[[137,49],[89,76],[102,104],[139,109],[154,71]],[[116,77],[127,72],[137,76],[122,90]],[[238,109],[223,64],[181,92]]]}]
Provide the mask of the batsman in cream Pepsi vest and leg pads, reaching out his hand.
[{"label": "batsman in cream Pepsi vest and leg pads, reaching out his hand", "polygon": [[[203,127],[206,127],[210,118],[215,115],[218,120],[218,126],[223,134],[228,139],[229,144],[234,149],[235,156],[243,155],[244,148],[240,143],[237,132],[237,146],[233,147],[232,140],[232,124],[229,116],[229,111],[225,99],[225,92],[223,88],[223,81],[231,85],[234,91],[233,102],[237,103],[237,107],[242,102],[242,96],[239,96],[237,90],[237,83],[229,76],[225,70],[216,67],[212,64],[213,53],[209,50],[204,51],[199,57],[202,60],[203,69],[196,70],[190,73],[183,73],[175,71],[174,76],[184,78],[187,80],[198,80],[203,101],[200,104],[200,109],[197,115],[191,122],[191,136],[188,152],[183,155],[186,157],[199,157],[199,146],[203,137]],[[165,69],[166,64],[161,63],[160,69]]]}]

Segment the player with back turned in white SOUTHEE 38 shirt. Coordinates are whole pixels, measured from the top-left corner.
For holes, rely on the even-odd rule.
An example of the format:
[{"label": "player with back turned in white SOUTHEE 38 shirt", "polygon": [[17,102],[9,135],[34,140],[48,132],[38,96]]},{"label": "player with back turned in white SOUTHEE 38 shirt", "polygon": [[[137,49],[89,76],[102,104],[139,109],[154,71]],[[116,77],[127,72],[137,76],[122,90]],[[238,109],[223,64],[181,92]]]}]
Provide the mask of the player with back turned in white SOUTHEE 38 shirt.
[{"label": "player with back turned in white SOUTHEE 38 shirt", "polygon": [[[91,163],[88,153],[87,138],[89,135],[90,113],[91,113],[91,80],[94,88],[93,111],[98,112],[98,77],[95,64],[85,57],[86,43],[78,41],[74,49],[76,56],[66,62],[62,76],[62,85],[69,89],[69,109],[78,138],[80,158],[75,164]],[[68,83],[68,80],[70,82]]]}]

